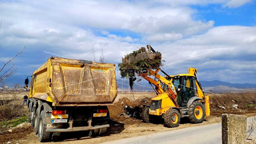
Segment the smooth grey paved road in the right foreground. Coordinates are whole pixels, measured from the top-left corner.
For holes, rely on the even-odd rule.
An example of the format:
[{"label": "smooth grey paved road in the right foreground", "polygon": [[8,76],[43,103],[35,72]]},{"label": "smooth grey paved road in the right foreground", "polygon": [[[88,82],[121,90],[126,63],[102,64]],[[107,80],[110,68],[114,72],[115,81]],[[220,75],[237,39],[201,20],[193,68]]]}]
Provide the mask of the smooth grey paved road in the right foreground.
[{"label": "smooth grey paved road in the right foreground", "polygon": [[[252,120],[252,117],[247,119],[247,123]],[[256,132],[256,130],[255,130]],[[218,144],[221,142],[221,124],[207,124],[202,126],[188,127],[168,132],[159,132],[144,136],[126,138],[121,140],[109,141],[105,144],[130,144],[130,143],[172,143],[172,144]]]}]

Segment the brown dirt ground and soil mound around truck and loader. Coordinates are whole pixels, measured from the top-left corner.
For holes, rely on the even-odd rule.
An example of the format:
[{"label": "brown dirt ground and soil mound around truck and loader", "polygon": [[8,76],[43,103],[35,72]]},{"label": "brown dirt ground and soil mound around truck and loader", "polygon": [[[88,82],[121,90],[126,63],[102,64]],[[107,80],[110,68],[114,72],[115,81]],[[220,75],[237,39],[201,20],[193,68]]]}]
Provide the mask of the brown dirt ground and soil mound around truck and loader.
[{"label": "brown dirt ground and soil mound around truck and loader", "polygon": [[[139,94],[139,93],[137,93]],[[150,97],[153,97],[150,96]],[[140,97],[138,99],[132,99],[122,97],[119,98],[114,106],[109,106],[109,113],[111,120],[108,121],[110,127],[107,132],[101,137],[88,137],[88,132],[69,132],[62,133],[61,139],[57,141],[51,141],[47,143],[101,143],[112,140],[124,139],[129,137],[135,137],[140,135],[146,135],[157,132],[172,131],[176,129],[182,129],[186,127],[193,127],[198,125],[221,123],[222,113],[233,113],[245,116],[254,116],[255,109],[221,109],[211,108],[211,116],[205,116],[205,120],[201,124],[191,124],[188,119],[181,118],[179,127],[167,128],[164,126],[163,119],[158,120],[155,123],[144,123],[136,116],[138,112],[143,108],[143,105],[150,103],[150,97]],[[121,113],[125,113],[125,106],[132,108],[132,113],[136,115],[132,117],[120,117]],[[24,106],[25,108],[25,106]],[[129,116],[129,115],[125,115]],[[0,143],[39,143],[37,135],[34,134],[33,128],[30,127],[30,123],[24,123],[23,126],[17,126],[13,128],[12,132],[0,133]]]}]

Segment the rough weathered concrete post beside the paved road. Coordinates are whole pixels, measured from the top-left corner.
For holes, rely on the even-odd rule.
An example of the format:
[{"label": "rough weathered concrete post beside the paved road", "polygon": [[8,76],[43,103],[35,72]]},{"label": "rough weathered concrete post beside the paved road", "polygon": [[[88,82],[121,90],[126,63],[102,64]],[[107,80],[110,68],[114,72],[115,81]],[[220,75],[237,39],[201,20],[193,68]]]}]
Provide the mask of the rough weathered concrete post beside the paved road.
[{"label": "rough weathered concrete post beside the paved road", "polygon": [[222,114],[222,144],[246,143],[247,117]]}]

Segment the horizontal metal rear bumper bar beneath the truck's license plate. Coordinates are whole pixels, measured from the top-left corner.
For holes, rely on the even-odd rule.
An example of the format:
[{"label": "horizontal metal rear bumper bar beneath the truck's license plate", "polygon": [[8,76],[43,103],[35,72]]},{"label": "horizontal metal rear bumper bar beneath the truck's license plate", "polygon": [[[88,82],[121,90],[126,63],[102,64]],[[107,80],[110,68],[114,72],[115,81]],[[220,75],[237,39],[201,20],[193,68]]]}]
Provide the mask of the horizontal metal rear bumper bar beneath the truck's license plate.
[{"label": "horizontal metal rear bumper bar beneath the truck's license plate", "polygon": [[91,130],[96,130],[96,129],[101,129],[101,128],[107,128],[109,127],[109,124],[105,125],[99,125],[99,126],[94,126],[91,128],[78,128],[73,127],[73,129],[46,129],[46,132],[79,132],[79,131],[91,131]]}]

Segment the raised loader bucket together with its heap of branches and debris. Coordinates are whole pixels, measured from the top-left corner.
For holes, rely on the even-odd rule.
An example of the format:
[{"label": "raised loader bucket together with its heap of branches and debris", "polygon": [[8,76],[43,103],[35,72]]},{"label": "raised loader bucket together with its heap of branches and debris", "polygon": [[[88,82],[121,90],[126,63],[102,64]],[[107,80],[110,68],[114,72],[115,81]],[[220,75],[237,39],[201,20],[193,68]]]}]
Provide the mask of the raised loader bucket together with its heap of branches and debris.
[{"label": "raised loader bucket together with its heap of branches and debris", "polygon": [[[151,50],[153,52],[151,52]],[[129,78],[130,88],[136,78],[137,71],[148,71],[148,69],[157,69],[162,64],[162,54],[160,52],[155,52],[150,45],[147,45],[147,50],[145,47],[141,47],[137,51],[133,51],[122,58],[122,63],[118,64],[120,75],[122,78]]]}]

